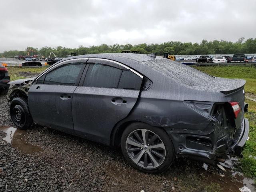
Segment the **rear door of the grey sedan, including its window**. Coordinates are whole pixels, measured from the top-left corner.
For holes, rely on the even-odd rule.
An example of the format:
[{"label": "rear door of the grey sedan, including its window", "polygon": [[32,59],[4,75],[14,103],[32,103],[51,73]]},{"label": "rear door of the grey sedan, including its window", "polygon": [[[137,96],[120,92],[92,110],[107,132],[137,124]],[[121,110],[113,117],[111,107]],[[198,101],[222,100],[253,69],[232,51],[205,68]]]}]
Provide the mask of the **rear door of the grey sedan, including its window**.
[{"label": "rear door of the grey sedan, including its window", "polygon": [[74,132],[109,144],[112,128],[136,104],[143,76],[105,59],[90,58],[85,71],[73,94]]}]

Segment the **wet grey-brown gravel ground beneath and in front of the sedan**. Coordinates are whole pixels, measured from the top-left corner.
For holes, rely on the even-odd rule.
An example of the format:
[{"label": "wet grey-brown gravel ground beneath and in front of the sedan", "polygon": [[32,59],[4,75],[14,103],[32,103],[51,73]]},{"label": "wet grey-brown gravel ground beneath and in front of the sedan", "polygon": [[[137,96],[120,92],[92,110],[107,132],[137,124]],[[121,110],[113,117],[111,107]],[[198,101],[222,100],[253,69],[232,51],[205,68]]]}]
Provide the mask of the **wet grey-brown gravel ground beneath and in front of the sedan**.
[{"label": "wet grey-brown gravel ground beneath and in front of the sedan", "polygon": [[[6,96],[0,96],[0,125],[13,126]],[[24,140],[40,146],[23,154],[0,131],[0,192],[5,191],[238,191],[241,179],[216,166],[175,160],[163,174],[144,174],[124,160],[120,149],[34,125]],[[221,177],[220,174],[225,174]],[[166,182],[165,184],[163,184]],[[7,186],[7,190],[6,190]]]}]

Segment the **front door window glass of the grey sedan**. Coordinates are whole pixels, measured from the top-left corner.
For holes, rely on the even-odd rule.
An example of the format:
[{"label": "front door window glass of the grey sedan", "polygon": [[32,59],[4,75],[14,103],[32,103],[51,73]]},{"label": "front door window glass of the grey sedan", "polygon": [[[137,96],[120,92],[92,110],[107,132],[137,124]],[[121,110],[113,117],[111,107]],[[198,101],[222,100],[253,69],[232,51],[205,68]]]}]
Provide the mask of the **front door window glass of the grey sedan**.
[{"label": "front door window glass of the grey sedan", "polygon": [[[84,63],[70,63],[46,74],[44,84],[76,85]],[[39,79],[38,79],[39,80]]]}]

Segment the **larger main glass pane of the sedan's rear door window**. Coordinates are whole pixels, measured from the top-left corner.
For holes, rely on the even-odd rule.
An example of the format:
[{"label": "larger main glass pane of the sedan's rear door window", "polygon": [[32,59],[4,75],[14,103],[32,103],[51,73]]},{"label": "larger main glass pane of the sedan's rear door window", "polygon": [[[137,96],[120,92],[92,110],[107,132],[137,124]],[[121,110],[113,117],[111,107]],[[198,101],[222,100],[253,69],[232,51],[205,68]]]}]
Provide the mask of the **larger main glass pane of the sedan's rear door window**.
[{"label": "larger main glass pane of the sedan's rear door window", "polygon": [[117,88],[122,74],[122,70],[112,66],[99,63],[90,64],[84,86]]}]

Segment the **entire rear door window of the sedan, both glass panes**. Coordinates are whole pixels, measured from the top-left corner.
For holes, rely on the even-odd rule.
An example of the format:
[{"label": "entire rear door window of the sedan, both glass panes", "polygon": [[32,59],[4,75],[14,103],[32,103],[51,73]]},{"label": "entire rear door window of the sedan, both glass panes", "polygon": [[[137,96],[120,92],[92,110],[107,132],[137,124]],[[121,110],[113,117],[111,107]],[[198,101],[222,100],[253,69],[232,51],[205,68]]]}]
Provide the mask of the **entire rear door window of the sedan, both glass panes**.
[{"label": "entire rear door window of the sedan, both glass panes", "polygon": [[142,78],[130,70],[90,64],[83,86],[140,90]]}]

